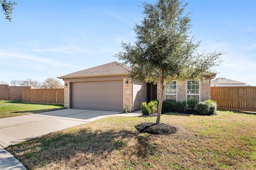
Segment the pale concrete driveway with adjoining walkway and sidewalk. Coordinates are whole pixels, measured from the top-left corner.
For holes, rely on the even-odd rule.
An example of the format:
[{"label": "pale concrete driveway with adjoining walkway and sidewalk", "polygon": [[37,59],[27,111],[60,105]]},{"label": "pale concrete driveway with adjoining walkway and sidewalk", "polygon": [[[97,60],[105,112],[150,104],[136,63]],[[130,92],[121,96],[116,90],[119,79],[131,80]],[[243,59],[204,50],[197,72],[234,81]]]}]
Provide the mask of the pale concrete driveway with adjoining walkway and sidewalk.
[{"label": "pale concrete driveway with adjoining walkway and sidewalk", "polygon": [[62,109],[0,119],[0,170],[26,170],[12,154],[8,145],[40,137],[54,131],[92,122],[108,116],[139,116],[141,111],[120,113],[85,109]]}]

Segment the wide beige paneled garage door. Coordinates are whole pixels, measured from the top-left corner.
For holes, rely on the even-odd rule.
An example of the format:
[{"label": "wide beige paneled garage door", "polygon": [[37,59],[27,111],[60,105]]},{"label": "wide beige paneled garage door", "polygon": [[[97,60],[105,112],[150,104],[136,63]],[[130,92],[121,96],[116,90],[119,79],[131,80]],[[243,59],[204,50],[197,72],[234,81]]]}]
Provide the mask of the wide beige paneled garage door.
[{"label": "wide beige paneled garage door", "polygon": [[122,111],[123,82],[72,83],[72,108]]}]

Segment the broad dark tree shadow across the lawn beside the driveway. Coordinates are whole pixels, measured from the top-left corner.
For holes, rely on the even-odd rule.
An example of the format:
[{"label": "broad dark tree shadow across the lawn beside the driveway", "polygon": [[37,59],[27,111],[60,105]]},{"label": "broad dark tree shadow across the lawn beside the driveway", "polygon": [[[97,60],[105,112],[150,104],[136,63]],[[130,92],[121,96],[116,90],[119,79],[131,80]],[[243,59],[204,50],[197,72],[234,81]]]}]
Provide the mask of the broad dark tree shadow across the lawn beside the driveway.
[{"label": "broad dark tree shadow across the lawn beside the driveway", "polygon": [[6,150],[11,152],[28,169],[40,167],[51,169],[49,167],[51,164],[60,164],[60,162],[70,169],[84,168],[87,164],[101,167],[102,162],[109,161],[108,156],[111,152],[116,150],[120,153],[119,151],[124,148],[125,152],[130,152],[131,148],[126,148],[126,146],[132,138],[138,141],[135,145],[130,146],[135,147],[134,150],[138,150],[132,154],[140,158],[147,156],[147,147],[152,149],[156,147],[148,145],[147,137],[142,137],[140,133],[133,131],[92,132],[90,128],[79,130],[73,128],[67,132],[50,133],[16,145],[10,145]]}]

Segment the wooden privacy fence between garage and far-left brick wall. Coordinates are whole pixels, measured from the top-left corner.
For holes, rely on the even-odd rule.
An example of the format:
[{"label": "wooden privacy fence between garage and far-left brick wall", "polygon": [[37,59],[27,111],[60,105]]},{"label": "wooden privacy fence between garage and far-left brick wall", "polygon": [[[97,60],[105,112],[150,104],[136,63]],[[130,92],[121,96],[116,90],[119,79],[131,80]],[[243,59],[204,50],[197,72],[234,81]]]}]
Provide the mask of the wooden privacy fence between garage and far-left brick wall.
[{"label": "wooden privacy fence between garage and far-left brick wall", "polygon": [[23,89],[22,102],[64,104],[64,88]]}]

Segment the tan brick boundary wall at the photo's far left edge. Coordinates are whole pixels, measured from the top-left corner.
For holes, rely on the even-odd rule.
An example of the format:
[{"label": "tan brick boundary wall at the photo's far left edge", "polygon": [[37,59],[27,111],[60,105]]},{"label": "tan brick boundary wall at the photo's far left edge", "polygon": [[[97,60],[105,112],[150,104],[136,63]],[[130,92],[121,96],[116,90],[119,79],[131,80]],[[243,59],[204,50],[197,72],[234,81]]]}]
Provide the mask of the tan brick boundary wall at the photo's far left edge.
[{"label": "tan brick boundary wall at the photo's far left edge", "polygon": [[22,89],[31,89],[24,86],[0,85],[0,100],[22,101]]}]

